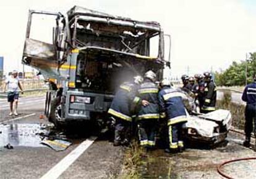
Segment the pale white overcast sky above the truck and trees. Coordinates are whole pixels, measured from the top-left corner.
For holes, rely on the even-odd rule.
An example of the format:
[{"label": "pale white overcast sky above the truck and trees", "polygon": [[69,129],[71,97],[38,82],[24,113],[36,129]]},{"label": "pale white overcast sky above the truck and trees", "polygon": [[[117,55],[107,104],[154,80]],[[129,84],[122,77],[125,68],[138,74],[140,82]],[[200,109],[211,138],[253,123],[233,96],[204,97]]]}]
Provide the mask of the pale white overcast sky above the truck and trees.
[{"label": "pale white overcast sky above the truck and trees", "polygon": [[[5,72],[22,70],[28,9],[65,14],[75,5],[160,22],[164,33],[172,37],[172,76],[224,70],[234,60],[244,60],[246,53],[256,52],[254,0],[0,1],[0,56],[4,56]],[[43,28],[51,26],[41,25],[42,38],[47,36]]]}]

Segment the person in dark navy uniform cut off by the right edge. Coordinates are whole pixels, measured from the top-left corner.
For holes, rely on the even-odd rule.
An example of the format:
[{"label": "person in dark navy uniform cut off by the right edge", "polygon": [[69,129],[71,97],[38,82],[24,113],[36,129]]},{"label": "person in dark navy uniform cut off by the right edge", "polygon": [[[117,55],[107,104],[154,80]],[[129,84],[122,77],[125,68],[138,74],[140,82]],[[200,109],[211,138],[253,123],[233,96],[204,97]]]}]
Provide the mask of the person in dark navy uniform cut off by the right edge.
[{"label": "person in dark navy uniform cut off by the right edge", "polygon": [[[242,100],[245,101],[245,124],[244,124],[244,132],[245,132],[245,141],[244,146],[250,146],[250,135],[254,130],[254,136],[256,137],[256,75],[254,76],[254,82],[248,84],[244,92],[242,93]],[[253,129],[253,121],[254,120],[254,129]],[[255,143],[256,146],[256,143]]]}]

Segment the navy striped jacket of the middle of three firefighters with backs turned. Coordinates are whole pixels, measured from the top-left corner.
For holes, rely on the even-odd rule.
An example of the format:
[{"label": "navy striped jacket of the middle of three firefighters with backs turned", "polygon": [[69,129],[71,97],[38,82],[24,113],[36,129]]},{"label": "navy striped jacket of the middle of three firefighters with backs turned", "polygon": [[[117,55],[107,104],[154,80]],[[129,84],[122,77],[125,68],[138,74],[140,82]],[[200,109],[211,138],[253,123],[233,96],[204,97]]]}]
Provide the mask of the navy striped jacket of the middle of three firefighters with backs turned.
[{"label": "navy striped jacket of the middle of three firefighters with backs turned", "polygon": [[158,106],[158,87],[156,84],[149,79],[140,85],[138,90],[140,100],[147,100],[149,102],[148,106],[140,106],[138,119],[158,119],[159,106]]}]

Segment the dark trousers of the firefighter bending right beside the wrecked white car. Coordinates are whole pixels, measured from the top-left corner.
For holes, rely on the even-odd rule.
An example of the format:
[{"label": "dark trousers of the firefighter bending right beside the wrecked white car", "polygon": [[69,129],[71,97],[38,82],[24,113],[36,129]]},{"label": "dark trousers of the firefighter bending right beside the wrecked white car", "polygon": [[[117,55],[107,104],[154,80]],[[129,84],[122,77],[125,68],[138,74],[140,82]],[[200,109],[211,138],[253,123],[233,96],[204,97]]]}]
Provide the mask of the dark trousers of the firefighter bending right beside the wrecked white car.
[{"label": "dark trousers of the firefighter bending right beside the wrecked white car", "polygon": [[178,146],[182,148],[184,147],[182,136],[182,124],[184,124],[184,122],[179,122],[177,124],[172,124],[168,126],[170,149],[177,149]]}]

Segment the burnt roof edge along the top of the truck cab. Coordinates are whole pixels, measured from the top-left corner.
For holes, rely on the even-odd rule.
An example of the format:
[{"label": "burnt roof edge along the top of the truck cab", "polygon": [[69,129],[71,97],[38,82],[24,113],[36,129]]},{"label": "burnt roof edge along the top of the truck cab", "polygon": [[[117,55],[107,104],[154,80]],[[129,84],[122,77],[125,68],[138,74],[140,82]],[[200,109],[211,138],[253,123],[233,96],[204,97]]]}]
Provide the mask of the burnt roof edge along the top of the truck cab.
[{"label": "burnt roof edge along the top of the truck cab", "polygon": [[105,20],[107,20],[108,23],[161,31],[161,26],[160,26],[160,23],[158,22],[140,22],[137,20],[132,20],[131,18],[110,15],[104,12],[98,12],[96,10],[90,10],[80,6],[72,7],[72,9],[70,9],[67,12],[67,15],[69,17],[69,20],[71,21],[74,19],[75,16],[79,16],[80,18],[91,17],[88,20],[94,20],[94,21],[98,20],[99,22],[102,21],[101,18],[105,18]]}]

